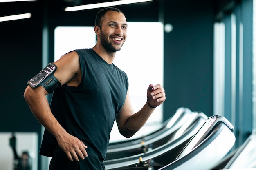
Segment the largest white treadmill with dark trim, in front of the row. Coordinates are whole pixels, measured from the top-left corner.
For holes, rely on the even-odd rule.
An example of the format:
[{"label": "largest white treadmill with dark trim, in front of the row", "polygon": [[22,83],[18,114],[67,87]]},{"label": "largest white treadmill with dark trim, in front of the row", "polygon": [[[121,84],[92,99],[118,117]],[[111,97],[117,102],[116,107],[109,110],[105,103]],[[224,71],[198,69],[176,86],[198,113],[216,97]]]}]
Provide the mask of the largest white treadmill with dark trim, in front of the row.
[{"label": "largest white treadmill with dark trim, in front of the row", "polygon": [[209,117],[176,160],[159,170],[211,170],[233,147],[233,132],[234,126],[225,117]]}]

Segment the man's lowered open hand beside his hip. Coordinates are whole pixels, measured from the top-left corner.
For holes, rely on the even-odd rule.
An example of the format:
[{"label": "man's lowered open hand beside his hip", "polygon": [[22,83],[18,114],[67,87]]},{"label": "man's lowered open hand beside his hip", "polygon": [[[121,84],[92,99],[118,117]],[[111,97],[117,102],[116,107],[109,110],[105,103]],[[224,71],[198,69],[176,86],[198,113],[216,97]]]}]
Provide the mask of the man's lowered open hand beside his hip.
[{"label": "man's lowered open hand beside his hip", "polygon": [[86,152],[87,146],[80,141],[77,137],[74,137],[67,133],[62,137],[56,137],[58,145],[67,155],[70,161],[79,161],[79,159],[85,159],[88,156]]}]

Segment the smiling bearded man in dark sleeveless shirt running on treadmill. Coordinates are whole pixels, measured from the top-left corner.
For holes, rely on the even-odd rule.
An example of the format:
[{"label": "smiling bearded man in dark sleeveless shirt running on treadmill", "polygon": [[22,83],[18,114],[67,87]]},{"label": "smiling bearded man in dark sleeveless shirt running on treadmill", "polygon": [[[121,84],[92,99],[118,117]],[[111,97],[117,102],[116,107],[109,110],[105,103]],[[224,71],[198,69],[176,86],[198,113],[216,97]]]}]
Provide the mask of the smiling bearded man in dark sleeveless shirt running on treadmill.
[{"label": "smiling bearded man in dark sleeveless shirt running on treadmill", "polygon": [[[31,86],[24,92],[32,113],[45,127],[40,154],[52,156],[50,170],[105,169],[103,160],[114,121],[129,138],[165,101],[164,89],[150,84],[145,105],[134,113],[127,75],[112,64],[127,36],[126,18],[119,9],[99,11],[94,31],[97,42],[92,49],[63,55],[48,71],[41,71],[49,73],[56,66],[49,73],[51,79],[42,78],[45,84],[37,86],[29,81]],[[53,91],[49,106],[45,95]]]}]

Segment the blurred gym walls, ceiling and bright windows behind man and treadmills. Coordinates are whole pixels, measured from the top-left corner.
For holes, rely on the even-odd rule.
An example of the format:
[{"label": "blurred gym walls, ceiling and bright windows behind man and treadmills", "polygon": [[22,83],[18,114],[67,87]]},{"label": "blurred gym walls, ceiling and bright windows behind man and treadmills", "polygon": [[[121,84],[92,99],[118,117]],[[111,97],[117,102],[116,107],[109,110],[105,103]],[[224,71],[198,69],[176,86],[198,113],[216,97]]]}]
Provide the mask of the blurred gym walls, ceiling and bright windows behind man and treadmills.
[{"label": "blurred gym walls, ceiling and bright windows behind man and treadmills", "polygon": [[[94,20],[101,8],[65,11],[66,7],[102,2],[110,0],[0,0],[0,166],[4,170],[15,168],[15,150],[18,157],[29,153],[31,169],[47,170],[48,160],[38,155],[43,127],[23,92],[27,80],[49,62],[71,50],[94,46]],[[128,73],[135,110],[146,102],[151,82],[162,84],[166,92],[164,104],[137,135],[160,126],[177,108],[187,107],[208,116],[225,116],[235,127],[234,148],[243,144],[256,128],[255,3],[151,0],[114,5],[128,21],[127,44],[114,63]],[[26,18],[4,18],[18,14]],[[114,126],[111,141],[125,140],[117,133]]]}]

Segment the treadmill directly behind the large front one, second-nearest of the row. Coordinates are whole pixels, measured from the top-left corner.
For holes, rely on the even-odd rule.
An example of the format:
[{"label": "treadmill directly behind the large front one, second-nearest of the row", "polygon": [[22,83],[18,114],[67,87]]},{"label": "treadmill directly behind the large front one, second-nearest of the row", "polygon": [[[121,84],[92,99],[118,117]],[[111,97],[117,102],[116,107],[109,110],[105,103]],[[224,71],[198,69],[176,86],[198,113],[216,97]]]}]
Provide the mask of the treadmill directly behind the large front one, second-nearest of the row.
[{"label": "treadmill directly behind the large front one, second-nearest of the row", "polygon": [[[192,116],[193,115],[193,116]],[[184,148],[186,143],[193,137],[193,135],[198,132],[198,130],[202,127],[207,116],[202,112],[193,112],[191,114],[190,119],[184,123],[184,125],[177,131],[176,134],[180,134],[179,137],[173,134],[172,137],[165,143],[156,148],[150,148],[146,152],[139,153],[137,155],[131,155],[128,157],[120,157],[112,160],[105,160],[105,168],[106,170],[124,170],[126,168],[134,168],[137,167],[137,163],[142,162],[141,159],[143,157],[144,160],[154,159],[156,157],[165,157],[168,158],[166,161],[175,160],[176,155]],[[189,126],[188,126],[189,125]],[[186,128],[183,128],[186,127]],[[147,162],[147,161],[145,161]],[[144,163],[143,163],[144,164]],[[161,164],[164,166],[165,164]],[[127,167],[128,166],[128,167]]]}]

